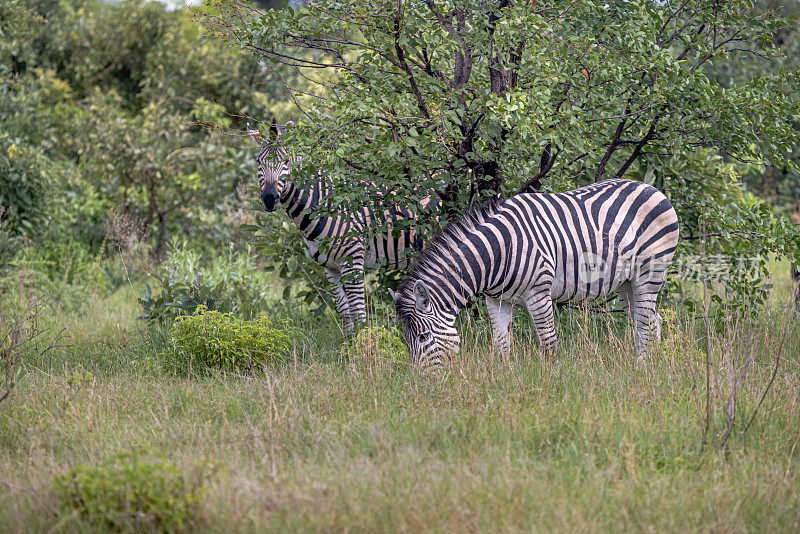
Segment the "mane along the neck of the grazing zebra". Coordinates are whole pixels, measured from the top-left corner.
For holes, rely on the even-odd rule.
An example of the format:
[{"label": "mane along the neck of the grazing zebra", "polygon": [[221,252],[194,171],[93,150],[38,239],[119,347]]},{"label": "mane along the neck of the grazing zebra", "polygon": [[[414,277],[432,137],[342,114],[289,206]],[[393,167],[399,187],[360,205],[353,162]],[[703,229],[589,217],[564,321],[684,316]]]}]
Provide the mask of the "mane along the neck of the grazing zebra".
[{"label": "mane along the neck of the grazing zebra", "polygon": [[504,199],[490,199],[482,204],[473,204],[461,217],[437,233],[422,250],[414,264],[409,268],[405,280],[397,288],[395,309],[401,323],[405,323],[408,313],[414,308],[413,287],[426,271],[434,266],[447,264],[452,258],[453,249],[463,243],[469,234],[491,219]]}]

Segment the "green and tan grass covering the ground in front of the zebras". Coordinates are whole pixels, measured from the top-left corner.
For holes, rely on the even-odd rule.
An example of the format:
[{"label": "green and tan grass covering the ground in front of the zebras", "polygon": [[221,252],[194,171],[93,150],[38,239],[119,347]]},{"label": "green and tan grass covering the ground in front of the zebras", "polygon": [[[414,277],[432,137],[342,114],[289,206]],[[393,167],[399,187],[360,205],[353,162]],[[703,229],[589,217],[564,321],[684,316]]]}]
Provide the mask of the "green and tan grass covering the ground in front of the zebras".
[{"label": "green and tan grass covering the ground in front of the zebras", "polygon": [[[0,530],[91,530],[61,511],[53,478],[156,451],[187,472],[219,469],[202,530],[796,531],[800,329],[779,313],[790,291],[780,277],[773,311],[713,334],[702,451],[702,321],[637,366],[630,331],[605,319],[562,317],[547,358],[520,317],[510,364],[485,322],[466,320],[461,357],[420,378],[369,351],[342,357],[331,316],[297,316],[288,363],[185,377],[164,370],[164,335],[136,321],[133,290],[92,297],[82,315],[53,313],[65,346],[29,359],[0,405]],[[729,373],[751,346],[723,451]]]}]

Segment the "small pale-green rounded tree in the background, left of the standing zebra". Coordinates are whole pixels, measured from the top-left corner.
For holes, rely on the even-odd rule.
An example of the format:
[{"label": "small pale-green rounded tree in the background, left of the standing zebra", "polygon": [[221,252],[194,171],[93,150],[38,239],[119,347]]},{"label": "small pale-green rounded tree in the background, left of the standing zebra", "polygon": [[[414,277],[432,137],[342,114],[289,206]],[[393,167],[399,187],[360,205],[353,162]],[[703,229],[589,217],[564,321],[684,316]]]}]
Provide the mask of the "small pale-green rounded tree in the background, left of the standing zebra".
[{"label": "small pale-green rounded tree in the background, left of the standing zebra", "polygon": [[[88,99],[81,168],[102,198],[141,220],[141,237],[154,237],[154,255],[162,257],[170,225],[196,236],[203,221],[198,215],[234,192],[239,154],[223,135],[172,109],[168,99],[138,113],[125,110],[120,100],[113,92]],[[197,107],[205,115],[211,112],[203,107],[214,108],[204,101]],[[222,123],[226,119],[216,109]]]}]

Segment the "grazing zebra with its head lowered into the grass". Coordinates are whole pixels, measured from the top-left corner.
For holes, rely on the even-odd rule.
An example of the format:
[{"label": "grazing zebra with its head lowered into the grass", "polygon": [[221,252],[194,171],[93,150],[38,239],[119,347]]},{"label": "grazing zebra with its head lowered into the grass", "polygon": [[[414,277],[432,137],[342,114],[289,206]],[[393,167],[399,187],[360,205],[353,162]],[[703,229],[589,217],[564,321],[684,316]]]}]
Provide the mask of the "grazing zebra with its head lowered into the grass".
[{"label": "grazing zebra with its head lowered into the grass", "polygon": [[411,361],[440,367],[457,352],[458,312],[483,293],[495,346],[507,353],[515,305],[555,347],[553,302],[618,291],[639,359],[661,335],[656,297],[678,243],[675,210],[656,188],[611,179],[559,194],[522,193],[471,209],[422,251],[395,294]]}]

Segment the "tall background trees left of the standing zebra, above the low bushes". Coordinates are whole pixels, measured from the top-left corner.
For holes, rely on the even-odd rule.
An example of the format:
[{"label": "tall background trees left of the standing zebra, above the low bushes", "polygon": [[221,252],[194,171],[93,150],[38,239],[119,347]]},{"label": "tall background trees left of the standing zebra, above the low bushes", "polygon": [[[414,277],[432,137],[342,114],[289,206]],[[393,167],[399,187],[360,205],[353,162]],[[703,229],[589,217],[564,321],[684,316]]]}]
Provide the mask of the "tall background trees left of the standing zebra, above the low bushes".
[{"label": "tall background trees left of the standing zebra, above the low bushes", "polygon": [[227,218],[252,159],[230,134],[279,92],[255,58],[156,2],[12,0],[0,9],[6,231],[100,250],[116,210],[156,256],[175,233],[234,237]]}]

